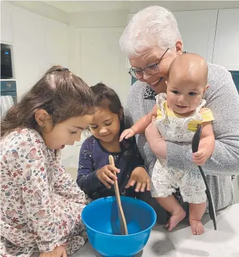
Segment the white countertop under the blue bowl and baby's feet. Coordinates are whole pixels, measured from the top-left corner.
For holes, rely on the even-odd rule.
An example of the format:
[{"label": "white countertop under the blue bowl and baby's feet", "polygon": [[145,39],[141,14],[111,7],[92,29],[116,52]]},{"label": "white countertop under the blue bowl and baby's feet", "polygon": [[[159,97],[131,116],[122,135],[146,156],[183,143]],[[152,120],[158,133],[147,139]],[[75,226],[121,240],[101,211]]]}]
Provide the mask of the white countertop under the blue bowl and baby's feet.
[{"label": "white countertop under the blue bowl and baby's feet", "polygon": [[[239,204],[217,212],[217,230],[208,214],[203,216],[206,232],[193,236],[184,220],[173,232],[155,226],[142,252],[135,257],[239,257]],[[100,257],[87,242],[72,257]]]}]

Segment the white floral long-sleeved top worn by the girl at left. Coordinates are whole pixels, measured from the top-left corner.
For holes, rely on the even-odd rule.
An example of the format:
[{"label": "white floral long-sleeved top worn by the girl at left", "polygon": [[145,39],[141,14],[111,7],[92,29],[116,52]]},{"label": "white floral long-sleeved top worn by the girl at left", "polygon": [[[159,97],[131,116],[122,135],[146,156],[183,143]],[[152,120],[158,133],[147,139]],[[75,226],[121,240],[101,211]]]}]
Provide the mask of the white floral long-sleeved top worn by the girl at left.
[{"label": "white floral long-sleeved top worn by the girl at left", "polygon": [[30,256],[66,245],[74,253],[87,239],[85,195],[33,129],[1,139],[1,256]]}]

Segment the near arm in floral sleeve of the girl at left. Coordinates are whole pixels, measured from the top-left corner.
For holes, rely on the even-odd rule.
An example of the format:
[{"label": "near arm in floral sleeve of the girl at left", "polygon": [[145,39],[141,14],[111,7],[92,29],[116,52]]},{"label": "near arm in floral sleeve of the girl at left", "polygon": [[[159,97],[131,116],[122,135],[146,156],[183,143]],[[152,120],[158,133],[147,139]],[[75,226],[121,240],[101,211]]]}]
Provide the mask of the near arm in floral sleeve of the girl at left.
[{"label": "near arm in floral sleeve of the girl at left", "polygon": [[[47,167],[45,166],[44,151],[46,148],[40,135],[34,133],[22,135],[14,144],[14,161],[12,170],[22,172],[18,181],[23,191],[23,209],[31,224],[31,232],[40,252],[51,252],[57,246],[55,233],[55,214],[49,191]],[[20,138],[20,137],[19,137]],[[25,144],[23,144],[23,142]],[[27,143],[31,142],[31,143]]]}]

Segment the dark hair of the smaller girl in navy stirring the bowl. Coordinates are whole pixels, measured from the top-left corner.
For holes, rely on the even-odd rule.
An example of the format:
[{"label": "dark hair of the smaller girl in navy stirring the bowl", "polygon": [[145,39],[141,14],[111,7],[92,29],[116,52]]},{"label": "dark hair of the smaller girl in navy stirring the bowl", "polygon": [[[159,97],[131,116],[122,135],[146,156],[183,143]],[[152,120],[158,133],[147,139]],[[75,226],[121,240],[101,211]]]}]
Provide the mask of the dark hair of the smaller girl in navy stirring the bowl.
[{"label": "dark hair of the smaller girl in navy stirring the bowl", "polygon": [[95,107],[101,107],[103,109],[109,109],[112,113],[119,116],[120,129],[119,135],[124,131],[124,112],[122,103],[119,96],[115,91],[104,85],[103,83],[98,83],[93,85],[92,91],[94,92],[94,105]]}]

